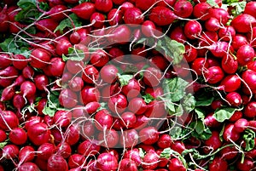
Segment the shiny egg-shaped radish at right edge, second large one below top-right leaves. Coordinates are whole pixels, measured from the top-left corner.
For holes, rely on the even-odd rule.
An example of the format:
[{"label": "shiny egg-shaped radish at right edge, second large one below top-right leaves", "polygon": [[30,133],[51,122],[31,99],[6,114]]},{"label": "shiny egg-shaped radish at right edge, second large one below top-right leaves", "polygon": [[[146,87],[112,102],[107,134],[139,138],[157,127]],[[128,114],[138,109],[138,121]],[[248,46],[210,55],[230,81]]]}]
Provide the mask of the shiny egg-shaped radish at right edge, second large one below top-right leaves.
[{"label": "shiny egg-shaped radish at right edge, second large one below top-right leaves", "polygon": [[254,49],[248,44],[241,46],[236,52],[237,61],[241,66],[245,66],[247,63],[251,62],[254,55]]}]

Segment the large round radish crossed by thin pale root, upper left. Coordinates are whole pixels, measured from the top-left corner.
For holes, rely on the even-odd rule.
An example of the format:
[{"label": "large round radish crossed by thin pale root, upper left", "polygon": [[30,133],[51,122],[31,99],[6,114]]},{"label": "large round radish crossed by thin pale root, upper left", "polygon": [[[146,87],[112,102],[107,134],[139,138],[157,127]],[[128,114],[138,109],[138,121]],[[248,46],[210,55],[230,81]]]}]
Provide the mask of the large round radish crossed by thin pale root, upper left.
[{"label": "large round radish crossed by thin pale root, upper left", "polygon": [[43,48],[35,48],[30,54],[30,65],[34,68],[42,69],[49,64],[50,54]]}]

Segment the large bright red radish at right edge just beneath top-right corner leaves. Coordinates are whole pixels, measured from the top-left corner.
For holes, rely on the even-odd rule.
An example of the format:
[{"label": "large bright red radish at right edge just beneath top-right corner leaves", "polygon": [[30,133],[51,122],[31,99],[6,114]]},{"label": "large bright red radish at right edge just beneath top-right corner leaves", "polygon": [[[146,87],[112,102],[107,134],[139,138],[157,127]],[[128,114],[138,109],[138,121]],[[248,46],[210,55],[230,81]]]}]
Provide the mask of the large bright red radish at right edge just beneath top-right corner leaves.
[{"label": "large bright red radish at right edge just beneath top-right corner leaves", "polygon": [[256,19],[250,14],[239,14],[231,21],[231,26],[237,32],[249,32],[253,26],[256,26]]}]

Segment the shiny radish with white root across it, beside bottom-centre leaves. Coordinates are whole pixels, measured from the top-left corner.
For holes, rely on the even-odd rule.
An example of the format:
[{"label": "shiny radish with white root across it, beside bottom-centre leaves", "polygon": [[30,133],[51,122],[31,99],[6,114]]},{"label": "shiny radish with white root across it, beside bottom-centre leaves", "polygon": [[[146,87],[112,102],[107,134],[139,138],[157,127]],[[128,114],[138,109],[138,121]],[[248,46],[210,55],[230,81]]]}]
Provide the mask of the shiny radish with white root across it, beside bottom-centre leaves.
[{"label": "shiny radish with white root across it, beside bottom-centre leaves", "polygon": [[154,150],[149,150],[143,157],[142,167],[143,169],[154,169],[158,167],[159,155]]}]

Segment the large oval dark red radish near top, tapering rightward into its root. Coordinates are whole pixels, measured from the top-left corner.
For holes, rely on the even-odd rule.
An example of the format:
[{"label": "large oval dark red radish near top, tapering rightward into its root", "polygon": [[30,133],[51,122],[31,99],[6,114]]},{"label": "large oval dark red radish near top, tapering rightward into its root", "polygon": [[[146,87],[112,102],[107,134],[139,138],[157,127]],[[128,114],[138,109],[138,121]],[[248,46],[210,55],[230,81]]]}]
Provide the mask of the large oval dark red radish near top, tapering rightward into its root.
[{"label": "large oval dark red radish near top, tapering rightward into its root", "polygon": [[177,19],[177,16],[171,9],[157,6],[151,9],[148,19],[153,21],[157,26],[168,26]]}]

